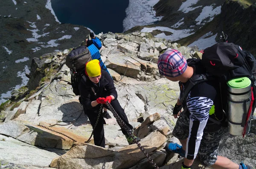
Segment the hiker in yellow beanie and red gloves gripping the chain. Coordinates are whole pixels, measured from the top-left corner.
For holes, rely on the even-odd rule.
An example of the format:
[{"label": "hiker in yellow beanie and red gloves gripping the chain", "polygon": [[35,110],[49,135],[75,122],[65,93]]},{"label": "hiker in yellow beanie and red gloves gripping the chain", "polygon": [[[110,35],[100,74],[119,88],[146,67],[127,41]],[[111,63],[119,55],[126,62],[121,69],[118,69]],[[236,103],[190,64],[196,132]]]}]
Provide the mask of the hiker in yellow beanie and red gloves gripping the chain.
[{"label": "hiker in yellow beanie and red gloves gripping the chain", "polygon": [[[125,115],[124,109],[120,106],[117,98],[116,87],[110,74],[105,70],[101,70],[98,59],[93,59],[85,65],[86,79],[82,79],[79,85],[81,95],[81,104],[84,107],[84,113],[88,116],[93,128],[96,124],[98,113],[100,113],[100,104],[107,107],[108,101],[119,117],[122,119],[128,130],[133,127],[129,124],[128,118]],[[96,146],[105,147],[104,128],[105,120],[102,113],[100,114],[98,124],[93,131],[94,144]],[[128,135],[128,132],[122,127],[122,133],[126,136],[129,144],[135,143],[135,140]],[[134,136],[135,137],[135,136]],[[140,141],[140,138],[136,138]]]}]

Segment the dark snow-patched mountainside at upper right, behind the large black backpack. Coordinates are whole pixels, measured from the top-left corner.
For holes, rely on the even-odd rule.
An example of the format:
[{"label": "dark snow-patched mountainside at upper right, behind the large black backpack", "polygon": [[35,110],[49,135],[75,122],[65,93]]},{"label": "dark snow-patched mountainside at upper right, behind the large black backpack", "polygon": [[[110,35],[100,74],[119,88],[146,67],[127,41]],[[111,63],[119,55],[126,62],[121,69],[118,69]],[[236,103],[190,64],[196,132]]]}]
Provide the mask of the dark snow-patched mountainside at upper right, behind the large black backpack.
[{"label": "dark snow-patched mountainside at upper right, behind the large black backpack", "polygon": [[[219,37],[224,31],[229,42],[239,44],[256,55],[256,0],[160,0],[154,9],[157,16],[163,16],[159,22],[137,26],[127,32],[142,31],[143,28],[150,27],[154,28],[154,36],[173,38],[170,35],[180,31],[180,34],[187,35],[176,39],[175,42],[187,46],[198,39],[209,38],[209,33],[218,34],[215,41],[220,42]],[[218,10],[219,12],[212,16],[212,13]],[[204,19],[201,20],[202,17]]]}]

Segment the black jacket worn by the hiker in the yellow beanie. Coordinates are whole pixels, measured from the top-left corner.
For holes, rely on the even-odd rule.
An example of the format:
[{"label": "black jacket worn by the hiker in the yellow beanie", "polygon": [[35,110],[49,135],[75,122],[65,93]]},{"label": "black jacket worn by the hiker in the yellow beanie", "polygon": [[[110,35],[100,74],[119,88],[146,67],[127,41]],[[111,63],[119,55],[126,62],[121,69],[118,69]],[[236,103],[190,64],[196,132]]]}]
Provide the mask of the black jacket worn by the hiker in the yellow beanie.
[{"label": "black jacket worn by the hiker in the yellow beanie", "polygon": [[105,70],[102,70],[102,76],[99,80],[99,86],[91,82],[89,77],[86,76],[86,82],[81,79],[79,84],[79,91],[81,96],[81,104],[83,104],[86,110],[96,109],[92,107],[91,102],[95,101],[99,97],[114,96],[117,99],[116,87],[110,74]]}]

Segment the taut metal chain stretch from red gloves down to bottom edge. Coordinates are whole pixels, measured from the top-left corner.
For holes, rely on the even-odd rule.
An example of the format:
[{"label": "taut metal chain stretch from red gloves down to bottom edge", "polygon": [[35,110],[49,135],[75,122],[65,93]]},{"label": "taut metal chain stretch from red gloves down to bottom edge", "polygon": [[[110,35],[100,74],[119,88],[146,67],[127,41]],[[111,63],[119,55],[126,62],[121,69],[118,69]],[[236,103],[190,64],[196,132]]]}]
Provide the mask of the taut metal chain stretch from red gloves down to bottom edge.
[{"label": "taut metal chain stretch from red gloves down to bottom edge", "polygon": [[124,123],[124,121],[122,121],[122,119],[119,117],[119,115],[116,113],[116,111],[114,110],[114,108],[111,106],[111,104],[107,101],[106,102],[109,110],[113,113],[114,117],[116,118],[117,123],[119,124],[119,126],[123,129],[126,130],[126,132],[128,132],[128,135],[131,136],[133,138],[133,140],[135,141],[135,143],[137,144],[137,146],[140,148],[140,150],[143,152],[143,154],[148,158],[149,163],[151,163],[151,165],[155,168],[158,169],[159,167],[157,166],[156,163],[154,163],[153,159],[150,157],[150,155],[148,155],[148,153],[145,151],[145,149],[143,148],[143,146],[141,146],[141,144],[137,141],[137,139],[135,138],[135,136],[133,135],[132,130],[128,130],[127,125]]}]

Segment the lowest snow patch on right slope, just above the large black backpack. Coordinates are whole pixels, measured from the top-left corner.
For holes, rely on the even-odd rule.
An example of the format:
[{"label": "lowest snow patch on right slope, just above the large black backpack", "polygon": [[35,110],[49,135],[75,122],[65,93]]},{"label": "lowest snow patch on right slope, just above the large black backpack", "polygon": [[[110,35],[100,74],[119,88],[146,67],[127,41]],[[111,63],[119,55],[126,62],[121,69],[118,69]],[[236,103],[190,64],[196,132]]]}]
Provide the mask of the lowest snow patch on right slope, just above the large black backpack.
[{"label": "lowest snow patch on right slope, just above the large black backpack", "polygon": [[[207,34],[204,34],[202,37],[197,39],[195,42],[188,45],[188,47],[198,46],[199,50],[203,50],[205,48],[208,48],[208,47],[214,45],[215,43],[217,43],[215,41],[217,34],[212,35],[212,36],[211,35],[212,35],[212,32],[208,32]],[[211,36],[211,37],[208,37],[208,36]],[[208,37],[208,38],[205,38],[205,37]]]}]

